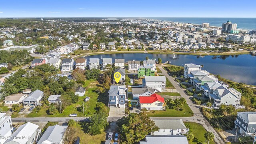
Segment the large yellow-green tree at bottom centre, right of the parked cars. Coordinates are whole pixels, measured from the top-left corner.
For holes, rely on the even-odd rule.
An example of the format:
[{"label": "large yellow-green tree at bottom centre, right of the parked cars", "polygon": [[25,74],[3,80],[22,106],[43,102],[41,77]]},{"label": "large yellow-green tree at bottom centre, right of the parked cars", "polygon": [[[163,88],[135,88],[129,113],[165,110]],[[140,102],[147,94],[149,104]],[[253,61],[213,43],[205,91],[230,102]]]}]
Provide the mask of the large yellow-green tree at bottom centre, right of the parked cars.
[{"label": "large yellow-green tree at bottom centre, right of the parked cars", "polygon": [[127,144],[134,144],[144,139],[151,132],[158,131],[155,125],[145,113],[130,113],[117,121],[120,141]]}]

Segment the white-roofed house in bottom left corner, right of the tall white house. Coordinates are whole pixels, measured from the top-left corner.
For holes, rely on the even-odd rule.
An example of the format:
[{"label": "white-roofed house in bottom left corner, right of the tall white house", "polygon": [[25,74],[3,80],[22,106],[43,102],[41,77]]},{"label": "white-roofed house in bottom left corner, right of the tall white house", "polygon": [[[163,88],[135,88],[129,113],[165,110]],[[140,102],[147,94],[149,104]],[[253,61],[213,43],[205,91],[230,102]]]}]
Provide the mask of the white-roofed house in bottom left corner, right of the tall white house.
[{"label": "white-roofed house in bottom left corner, right of the tall white house", "polygon": [[41,129],[39,129],[39,126],[31,122],[27,122],[17,128],[17,130],[4,142],[4,144],[34,144],[37,142],[40,135]]}]

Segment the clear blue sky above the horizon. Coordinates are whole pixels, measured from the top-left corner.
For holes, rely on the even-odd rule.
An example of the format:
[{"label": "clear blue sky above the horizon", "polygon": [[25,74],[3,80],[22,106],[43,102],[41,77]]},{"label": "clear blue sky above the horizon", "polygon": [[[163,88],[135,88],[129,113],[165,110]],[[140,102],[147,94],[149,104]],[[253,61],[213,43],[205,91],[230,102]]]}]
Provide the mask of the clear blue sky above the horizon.
[{"label": "clear blue sky above the horizon", "polygon": [[0,18],[255,18],[256,0],[0,0]]}]

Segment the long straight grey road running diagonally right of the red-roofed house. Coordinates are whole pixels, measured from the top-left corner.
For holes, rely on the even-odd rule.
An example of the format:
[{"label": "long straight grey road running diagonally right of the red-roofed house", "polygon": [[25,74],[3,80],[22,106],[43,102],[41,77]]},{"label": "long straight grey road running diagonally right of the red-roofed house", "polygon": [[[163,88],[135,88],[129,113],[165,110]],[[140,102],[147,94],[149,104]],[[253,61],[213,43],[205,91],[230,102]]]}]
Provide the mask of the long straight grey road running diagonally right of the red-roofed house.
[{"label": "long straight grey road running diagonally right of the red-roofed house", "polygon": [[[178,86],[178,84],[176,83],[176,81],[174,80],[174,78],[172,78],[171,76],[169,76],[169,74],[167,74],[167,72],[164,70],[164,68],[162,68],[163,65],[157,65],[160,70],[162,71],[162,75],[166,76],[166,78],[168,78],[170,80],[170,82],[173,84],[173,86],[176,88],[176,90],[178,92],[180,92],[180,95],[183,98],[186,98],[187,104],[188,106],[191,108],[191,110],[194,112],[194,119],[200,121],[198,123],[202,124],[202,126],[204,126],[204,128],[207,131],[213,132],[214,134],[214,141],[217,144],[225,144],[225,142],[222,140],[222,138],[220,138],[220,136],[218,135],[218,133],[214,130],[214,128],[210,125],[210,123],[204,118],[204,116],[202,115],[202,113],[200,112],[200,110],[197,108],[197,106],[189,99],[189,97],[185,94],[184,90],[182,90],[182,88],[180,88],[180,86]],[[166,119],[170,119],[170,118],[166,118]],[[182,120],[186,121],[186,118]],[[188,120],[191,120],[190,118],[188,118]]]}]

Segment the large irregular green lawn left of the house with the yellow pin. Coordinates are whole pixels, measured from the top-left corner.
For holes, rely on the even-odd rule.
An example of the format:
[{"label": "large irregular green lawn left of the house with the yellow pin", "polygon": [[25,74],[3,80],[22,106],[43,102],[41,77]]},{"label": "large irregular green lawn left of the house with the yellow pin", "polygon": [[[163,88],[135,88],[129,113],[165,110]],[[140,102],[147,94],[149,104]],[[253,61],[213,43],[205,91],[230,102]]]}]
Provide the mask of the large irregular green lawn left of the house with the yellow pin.
[{"label": "large irregular green lawn left of the house with the yellow pin", "polygon": [[[79,101],[75,104],[71,104],[67,106],[64,111],[60,114],[48,115],[47,110],[48,106],[44,106],[39,110],[39,112],[31,112],[26,117],[68,117],[69,114],[76,113],[77,116],[92,116],[93,113],[96,112],[95,107],[97,102],[103,102],[106,105],[108,104],[108,97],[104,96],[104,94],[98,95],[94,90],[100,86],[99,83],[95,80],[86,80],[84,87],[86,88],[85,96],[79,97]],[[90,97],[88,102],[84,102],[84,114],[82,112],[82,105],[84,98],[86,96]],[[109,109],[108,109],[109,110]],[[87,115],[86,115],[87,114]]]}]

